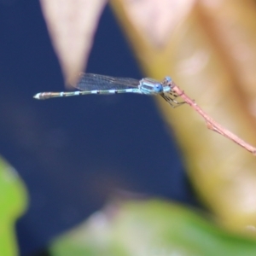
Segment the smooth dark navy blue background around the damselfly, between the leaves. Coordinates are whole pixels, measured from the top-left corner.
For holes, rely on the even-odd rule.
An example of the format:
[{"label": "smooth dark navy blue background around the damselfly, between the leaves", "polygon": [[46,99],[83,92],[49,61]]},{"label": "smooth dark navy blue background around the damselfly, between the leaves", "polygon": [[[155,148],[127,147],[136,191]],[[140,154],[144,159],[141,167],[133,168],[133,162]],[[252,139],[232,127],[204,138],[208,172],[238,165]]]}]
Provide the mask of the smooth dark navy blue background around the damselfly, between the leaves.
[{"label": "smooth dark navy blue background around the damselfly, between the leaves", "polygon": [[[119,190],[194,203],[152,97],[34,100],[39,91],[65,90],[40,5],[2,1],[0,12],[0,151],[29,193],[16,229],[21,254],[45,247]],[[86,72],[143,77],[109,6]]]}]

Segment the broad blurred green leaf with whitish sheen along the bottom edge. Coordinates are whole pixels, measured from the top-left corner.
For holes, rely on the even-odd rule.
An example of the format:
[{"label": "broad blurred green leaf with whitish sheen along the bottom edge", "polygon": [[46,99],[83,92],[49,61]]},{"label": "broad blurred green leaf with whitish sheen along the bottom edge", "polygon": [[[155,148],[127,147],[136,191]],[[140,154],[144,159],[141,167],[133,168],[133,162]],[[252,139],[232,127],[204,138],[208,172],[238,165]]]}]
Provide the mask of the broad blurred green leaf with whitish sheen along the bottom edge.
[{"label": "broad blurred green leaf with whitish sheen along the bottom edge", "polygon": [[65,255],[255,255],[256,243],[230,235],[183,207],[164,201],[110,205],[50,249]]}]

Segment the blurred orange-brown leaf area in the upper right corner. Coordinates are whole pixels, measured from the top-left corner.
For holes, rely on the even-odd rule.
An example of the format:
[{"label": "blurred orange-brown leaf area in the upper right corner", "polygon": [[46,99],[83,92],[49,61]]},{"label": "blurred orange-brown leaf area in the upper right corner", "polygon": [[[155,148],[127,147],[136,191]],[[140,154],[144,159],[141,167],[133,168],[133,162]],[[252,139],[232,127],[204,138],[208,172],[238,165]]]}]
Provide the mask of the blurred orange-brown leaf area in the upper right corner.
[{"label": "blurred orange-brown leaf area in the upper right corner", "polygon": [[[226,65],[244,94],[247,110],[256,116],[256,6],[252,1],[201,1],[201,15],[211,28],[212,39],[226,56]],[[216,13],[218,15],[216,16]],[[255,122],[255,120],[253,120]]]}]

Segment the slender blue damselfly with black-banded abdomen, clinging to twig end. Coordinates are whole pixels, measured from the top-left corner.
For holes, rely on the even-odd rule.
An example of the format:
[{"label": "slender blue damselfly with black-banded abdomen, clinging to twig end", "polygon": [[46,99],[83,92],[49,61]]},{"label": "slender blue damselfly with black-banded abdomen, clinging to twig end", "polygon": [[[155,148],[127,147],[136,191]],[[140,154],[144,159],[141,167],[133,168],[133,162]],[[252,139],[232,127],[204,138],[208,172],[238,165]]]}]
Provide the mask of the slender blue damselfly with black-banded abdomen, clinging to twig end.
[{"label": "slender blue damselfly with black-banded abdomen, clinging to twig end", "polygon": [[38,100],[45,100],[63,96],[82,96],[88,94],[116,94],[116,93],[138,93],[145,95],[160,95],[172,108],[183,104],[177,102],[177,93],[172,90],[172,79],[166,77],[162,82],[154,79],[128,79],[114,78],[94,73],[81,73],[79,82],[73,85],[78,91],[62,92],[39,92],[34,96]]}]

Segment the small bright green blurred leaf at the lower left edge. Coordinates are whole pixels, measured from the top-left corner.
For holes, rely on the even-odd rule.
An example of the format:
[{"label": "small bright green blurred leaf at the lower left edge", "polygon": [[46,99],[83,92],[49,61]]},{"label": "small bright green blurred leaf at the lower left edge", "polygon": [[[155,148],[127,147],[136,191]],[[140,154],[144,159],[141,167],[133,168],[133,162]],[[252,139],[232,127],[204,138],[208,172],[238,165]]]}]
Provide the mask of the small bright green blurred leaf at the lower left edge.
[{"label": "small bright green blurred leaf at the lower left edge", "polygon": [[18,255],[15,222],[26,206],[24,184],[14,168],[0,158],[0,255]]}]

